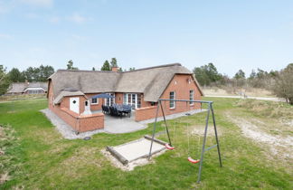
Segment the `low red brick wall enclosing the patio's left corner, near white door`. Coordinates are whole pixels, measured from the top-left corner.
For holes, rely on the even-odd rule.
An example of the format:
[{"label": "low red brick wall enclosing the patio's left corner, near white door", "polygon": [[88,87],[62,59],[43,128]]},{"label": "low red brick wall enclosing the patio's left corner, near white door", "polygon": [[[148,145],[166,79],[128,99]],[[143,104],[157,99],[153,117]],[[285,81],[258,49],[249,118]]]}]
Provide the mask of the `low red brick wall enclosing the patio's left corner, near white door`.
[{"label": "low red brick wall enclosing the patio's left corner, near white door", "polygon": [[63,119],[68,125],[76,131],[85,132],[104,128],[104,114],[95,113],[85,116],[79,116],[77,113],[66,108],[54,108],[52,109],[61,119]]}]

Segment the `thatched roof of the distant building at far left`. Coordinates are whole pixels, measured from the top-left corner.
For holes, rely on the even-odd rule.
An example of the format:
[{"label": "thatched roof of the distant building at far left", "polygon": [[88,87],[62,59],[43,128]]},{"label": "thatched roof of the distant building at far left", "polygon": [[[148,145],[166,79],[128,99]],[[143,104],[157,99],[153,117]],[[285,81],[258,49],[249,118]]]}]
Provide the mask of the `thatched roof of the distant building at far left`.
[{"label": "thatched roof of the distant building at far left", "polygon": [[43,88],[43,90],[48,90],[47,82],[14,82],[10,85],[7,93],[22,93],[27,88]]}]

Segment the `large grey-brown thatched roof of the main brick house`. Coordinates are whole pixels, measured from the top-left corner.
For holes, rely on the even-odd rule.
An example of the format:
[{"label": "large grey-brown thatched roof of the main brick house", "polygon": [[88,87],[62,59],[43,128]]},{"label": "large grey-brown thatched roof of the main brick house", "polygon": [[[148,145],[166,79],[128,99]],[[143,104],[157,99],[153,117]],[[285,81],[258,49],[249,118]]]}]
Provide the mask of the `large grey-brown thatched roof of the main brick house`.
[{"label": "large grey-brown thatched roof of the main brick house", "polygon": [[174,63],[122,72],[58,70],[49,79],[55,98],[62,90],[75,88],[83,93],[144,93],[144,100],[157,101],[175,74],[192,72]]}]

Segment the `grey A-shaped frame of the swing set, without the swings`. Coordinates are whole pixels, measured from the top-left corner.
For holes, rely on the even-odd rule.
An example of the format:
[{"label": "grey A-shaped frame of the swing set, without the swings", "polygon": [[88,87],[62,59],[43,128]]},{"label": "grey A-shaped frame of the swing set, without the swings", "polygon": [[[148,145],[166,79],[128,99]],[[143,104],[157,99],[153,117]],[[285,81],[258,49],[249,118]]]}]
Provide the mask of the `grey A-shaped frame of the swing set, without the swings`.
[{"label": "grey A-shaped frame of the swing set, without the swings", "polygon": [[[194,103],[201,103],[201,109],[202,109],[202,104],[208,104],[208,109],[207,109],[207,115],[206,115],[206,119],[205,119],[205,128],[204,128],[204,137],[203,137],[203,148],[202,148],[202,152],[201,152],[201,159],[200,159],[200,166],[198,169],[198,177],[197,177],[197,183],[201,182],[201,176],[202,176],[202,169],[203,169],[203,156],[204,153],[210,149],[212,149],[213,147],[217,147],[218,150],[218,157],[219,157],[219,162],[220,162],[220,166],[222,167],[222,158],[221,158],[221,152],[220,152],[220,144],[219,144],[219,138],[218,138],[218,133],[217,133],[217,127],[216,127],[216,122],[214,119],[214,113],[213,113],[213,101],[203,101],[203,100],[172,100],[172,99],[159,99],[157,102],[157,108],[156,108],[156,119],[155,119],[155,123],[154,123],[154,128],[153,128],[153,135],[152,135],[152,140],[151,140],[151,146],[149,148],[149,155],[148,155],[148,160],[150,160],[150,158],[152,157],[152,147],[153,147],[153,143],[154,143],[154,139],[155,139],[155,134],[156,134],[156,122],[157,122],[157,117],[158,117],[158,112],[159,112],[159,108],[161,107],[162,110],[162,115],[163,115],[163,119],[164,119],[164,123],[165,123],[165,131],[166,134],[168,136],[168,140],[169,140],[169,145],[172,147],[172,142],[171,142],[171,138],[169,135],[169,129],[168,126],[166,124],[166,120],[165,120],[165,113],[164,113],[164,109],[162,106],[162,101],[184,101],[184,102],[194,102]],[[205,143],[206,143],[206,136],[207,136],[207,129],[209,126],[209,118],[210,118],[210,112],[212,112],[212,118],[213,118],[213,128],[214,128],[214,136],[216,139],[216,144],[211,146],[211,147],[206,147],[205,148]]]}]

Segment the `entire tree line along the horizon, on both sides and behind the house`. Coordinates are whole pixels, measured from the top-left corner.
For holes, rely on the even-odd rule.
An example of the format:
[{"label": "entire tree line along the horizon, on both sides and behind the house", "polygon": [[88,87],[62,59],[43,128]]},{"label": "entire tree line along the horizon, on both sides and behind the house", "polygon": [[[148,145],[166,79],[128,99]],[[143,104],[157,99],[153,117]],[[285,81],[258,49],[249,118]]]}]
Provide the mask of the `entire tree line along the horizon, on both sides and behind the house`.
[{"label": "entire tree line along the horizon, on both sides and behind the house", "polygon": [[[73,61],[67,62],[67,70],[79,70],[73,66]],[[118,67],[116,58],[111,58],[110,62],[106,60],[100,71],[111,71],[113,67]],[[96,71],[92,68],[92,71]],[[134,67],[129,68],[128,71],[136,70]],[[122,70],[121,67],[118,71]],[[222,86],[227,89],[236,90],[238,88],[262,88],[272,91],[278,97],[285,98],[290,104],[293,105],[293,63],[288,64],[286,68],[280,71],[263,71],[257,69],[252,70],[249,77],[246,77],[245,72],[239,70],[235,75],[230,78],[228,75],[220,73],[212,62],[205,64],[201,67],[194,68],[194,74],[197,81],[201,86]],[[13,68],[11,71],[6,72],[3,65],[0,65],[0,95],[5,94],[11,82],[24,82],[24,81],[47,81],[47,79],[54,73],[54,68],[50,65],[40,67],[28,67],[24,71],[19,71]]]}]

